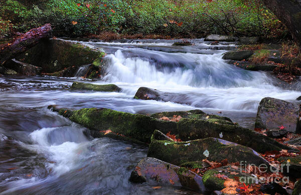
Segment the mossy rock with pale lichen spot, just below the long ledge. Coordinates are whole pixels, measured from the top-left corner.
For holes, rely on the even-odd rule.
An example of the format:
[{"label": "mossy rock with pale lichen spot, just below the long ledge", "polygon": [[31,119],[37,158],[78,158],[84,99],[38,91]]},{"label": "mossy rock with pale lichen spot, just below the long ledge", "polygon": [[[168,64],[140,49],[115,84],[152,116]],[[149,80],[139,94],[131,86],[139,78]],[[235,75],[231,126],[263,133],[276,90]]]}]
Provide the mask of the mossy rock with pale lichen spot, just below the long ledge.
[{"label": "mossy rock with pale lichen spot, just below the long ledge", "polygon": [[[206,151],[208,155],[205,154]],[[230,163],[246,161],[246,164],[270,166],[269,162],[253,149],[217,138],[188,142],[152,140],[147,157],[158,158],[175,165],[204,159],[221,162],[227,158]]]}]

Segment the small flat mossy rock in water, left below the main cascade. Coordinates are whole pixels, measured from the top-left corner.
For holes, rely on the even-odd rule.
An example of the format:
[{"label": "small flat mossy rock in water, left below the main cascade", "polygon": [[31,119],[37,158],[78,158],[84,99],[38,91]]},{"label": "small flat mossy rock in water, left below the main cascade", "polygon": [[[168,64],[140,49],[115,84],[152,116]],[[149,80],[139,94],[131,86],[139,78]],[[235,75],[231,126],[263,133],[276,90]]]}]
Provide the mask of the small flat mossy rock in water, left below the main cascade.
[{"label": "small flat mossy rock in water, left below the main cascade", "polygon": [[90,84],[90,83],[83,83],[83,82],[73,82],[72,89],[81,89],[81,90],[94,90],[94,91],[107,91],[107,92],[113,92],[113,91],[120,91],[121,89],[115,85],[115,84]]}]

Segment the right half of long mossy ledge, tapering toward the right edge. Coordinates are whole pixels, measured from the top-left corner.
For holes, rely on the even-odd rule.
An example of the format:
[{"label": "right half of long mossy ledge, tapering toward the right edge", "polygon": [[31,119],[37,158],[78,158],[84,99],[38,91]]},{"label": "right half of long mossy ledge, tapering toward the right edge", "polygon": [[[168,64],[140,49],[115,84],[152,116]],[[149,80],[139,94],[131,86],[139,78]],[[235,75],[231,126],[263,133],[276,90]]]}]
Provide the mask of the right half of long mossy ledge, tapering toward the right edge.
[{"label": "right half of long mossy ledge, tapering toward the right edge", "polygon": [[267,136],[238,125],[212,123],[208,120],[182,119],[177,123],[177,130],[179,138],[183,141],[213,137],[248,146],[263,153],[281,149],[294,150]]}]

